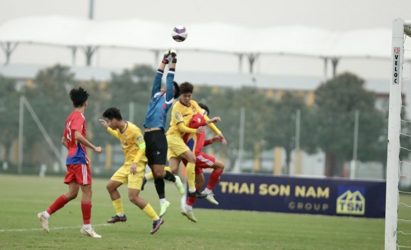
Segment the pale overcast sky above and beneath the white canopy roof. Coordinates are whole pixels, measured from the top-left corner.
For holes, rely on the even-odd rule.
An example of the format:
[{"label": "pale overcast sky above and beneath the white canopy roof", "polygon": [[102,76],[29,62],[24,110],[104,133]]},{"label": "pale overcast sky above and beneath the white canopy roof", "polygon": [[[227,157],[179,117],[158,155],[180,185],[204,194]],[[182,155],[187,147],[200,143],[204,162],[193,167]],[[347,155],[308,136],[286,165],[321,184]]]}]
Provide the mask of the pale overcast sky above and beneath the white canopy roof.
[{"label": "pale overcast sky above and beneath the white canopy roof", "polygon": [[[305,25],[328,30],[391,28],[396,17],[411,19],[411,0],[95,0],[96,20],[139,18],[176,24],[221,22],[249,27]],[[0,0],[0,25],[8,19],[32,15],[67,15],[88,17],[88,0]],[[387,48],[389,49],[389,48]],[[130,55],[132,55],[130,57]],[[187,61],[180,70],[232,72],[238,71],[234,56],[186,53]],[[200,57],[202,64],[193,64]],[[5,60],[0,53],[0,62]],[[130,67],[135,63],[152,64],[151,53],[103,49],[92,61],[93,66],[105,68]],[[77,57],[76,65],[84,65]],[[221,63],[222,62],[222,63]],[[67,49],[20,45],[11,63],[71,65]],[[389,79],[390,61],[341,60],[338,71],[351,71],[364,78]],[[246,71],[247,65],[244,66]],[[267,57],[256,64],[263,74],[296,74],[322,76],[323,61],[319,59]]]}]

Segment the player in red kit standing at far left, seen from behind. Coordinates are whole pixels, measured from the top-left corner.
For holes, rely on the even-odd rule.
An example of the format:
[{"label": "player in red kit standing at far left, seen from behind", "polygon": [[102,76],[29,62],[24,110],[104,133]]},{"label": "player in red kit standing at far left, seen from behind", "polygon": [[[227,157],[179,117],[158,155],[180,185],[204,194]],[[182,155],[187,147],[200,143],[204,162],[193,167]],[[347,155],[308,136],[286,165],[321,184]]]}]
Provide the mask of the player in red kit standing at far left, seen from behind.
[{"label": "player in red kit standing at far left, seen from behind", "polygon": [[81,189],[81,211],[83,213],[83,226],[80,233],[93,237],[101,238],[96,234],[90,225],[91,218],[91,172],[88,165],[89,159],[86,155],[88,147],[94,152],[101,154],[101,147],[95,147],[86,139],[86,120],[83,116],[87,108],[87,98],[89,94],[82,88],[72,89],[70,99],[74,106],[74,111],[66,120],[62,144],[68,149],[66,166],[67,173],[64,183],[68,184],[68,192],[57,198],[46,211],[37,215],[43,229],[48,233],[48,220],[50,215],[61,209],[67,202],[77,197]]}]

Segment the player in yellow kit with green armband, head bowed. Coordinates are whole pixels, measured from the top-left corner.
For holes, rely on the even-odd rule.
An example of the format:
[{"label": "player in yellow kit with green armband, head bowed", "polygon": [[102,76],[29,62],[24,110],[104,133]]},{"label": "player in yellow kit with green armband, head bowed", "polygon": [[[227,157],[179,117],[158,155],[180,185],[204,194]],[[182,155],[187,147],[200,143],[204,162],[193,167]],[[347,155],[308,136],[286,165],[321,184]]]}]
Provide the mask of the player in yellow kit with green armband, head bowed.
[{"label": "player in yellow kit with green armband, head bowed", "polygon": [[104,111],[103,117],[107,121],[103,119],[99,119],[99,121],[108,133],[120,140],[125,156],[124,165],[114,173],[107,183],[107,191],[117,213],[116,216],[107,220],[107,222],[115,223],[127,220],[120,193],[117,189],[122,184],[128,184],[128,199],[140,207],[144,214],[153,219],[153,229],[150,233],[154,234],[164,220],[156,214],[150,203],[139,197],[145,164],[147,163],[143,134],[136,125],[129,121],[124,121],[120,110],[117,108],[108,108]]}]

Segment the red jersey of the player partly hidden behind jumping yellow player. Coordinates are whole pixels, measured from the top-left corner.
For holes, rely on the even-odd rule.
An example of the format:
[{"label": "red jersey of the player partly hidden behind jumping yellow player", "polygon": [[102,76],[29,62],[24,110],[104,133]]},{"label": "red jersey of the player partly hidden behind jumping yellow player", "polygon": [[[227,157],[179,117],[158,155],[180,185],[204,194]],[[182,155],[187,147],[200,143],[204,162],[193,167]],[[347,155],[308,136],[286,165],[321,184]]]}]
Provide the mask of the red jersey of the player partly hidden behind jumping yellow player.
[{"label": "red jersey of the player partly hidden behind jumping yellow player", "polygon": [[[193,115],[189,123],[189,128],[198,129],[200,126],[206,126],[206,121],[204,120],[204,116],[201,113],[196,113]],[[204,141],[206,138],[206,132],[201,134],[196,133],[186,133],[184,135],[184,142],[187,144],[191,151],[194,152],[195,155],[201,153],[201,150],[204,146],[210,144],[210,140]]]}]

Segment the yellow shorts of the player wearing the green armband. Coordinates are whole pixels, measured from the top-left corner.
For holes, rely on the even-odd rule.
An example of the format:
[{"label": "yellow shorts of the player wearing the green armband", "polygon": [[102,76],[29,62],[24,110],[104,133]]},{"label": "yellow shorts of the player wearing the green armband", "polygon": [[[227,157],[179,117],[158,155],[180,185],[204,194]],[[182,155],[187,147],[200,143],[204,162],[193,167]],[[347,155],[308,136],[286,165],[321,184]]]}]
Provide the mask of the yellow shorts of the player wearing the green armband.
[{"label": "yellow shorts of the player wearing the green armband", "polygon": [[138,189],[141,190],[141,185],[143,184],[143,176],[145,173],[145,164],[147,161],[139,161],[137,163],[136,174],[130,174],[131,165],[122,165],[113,176],[111,180],[120,181],[123,184],[128,183],[129,189]]}]

